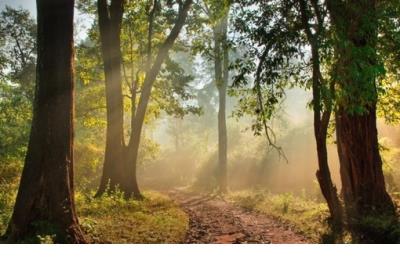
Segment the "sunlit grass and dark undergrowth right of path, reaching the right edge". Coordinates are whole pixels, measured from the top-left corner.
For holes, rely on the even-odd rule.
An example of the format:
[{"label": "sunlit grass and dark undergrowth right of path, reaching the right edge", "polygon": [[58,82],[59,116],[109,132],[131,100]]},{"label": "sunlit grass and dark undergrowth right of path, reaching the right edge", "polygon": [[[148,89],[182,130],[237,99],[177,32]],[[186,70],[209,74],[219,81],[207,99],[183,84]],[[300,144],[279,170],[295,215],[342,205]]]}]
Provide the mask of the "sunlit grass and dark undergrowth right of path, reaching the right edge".
[{"label": "sunlit grass and dark undergrowth right of path, reaching the right edge", "polygon": [[[400,195],[393,193],[392,198],[399,207]],[[231,193],[228,199],[245,210],[272,216],[313,243],[399,243],[400,241],[399,223],[393,218],[383,216],[366,217],[358,224],[357,228],[363,232],[364,239],[346,229],[335,232],[329,226],[327,205],[305,196],[245,190]],[[398,211],[400,214],[400,209]]]}]

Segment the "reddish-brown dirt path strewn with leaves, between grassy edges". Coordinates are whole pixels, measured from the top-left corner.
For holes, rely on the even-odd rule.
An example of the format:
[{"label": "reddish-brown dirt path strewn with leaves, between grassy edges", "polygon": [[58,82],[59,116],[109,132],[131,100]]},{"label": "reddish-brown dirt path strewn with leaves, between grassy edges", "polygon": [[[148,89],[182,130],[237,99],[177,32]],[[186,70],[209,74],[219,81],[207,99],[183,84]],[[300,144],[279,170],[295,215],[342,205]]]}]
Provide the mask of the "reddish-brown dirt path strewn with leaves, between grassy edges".
[{"label": "reddish-brown dirt path strewn with leaves, between grassy edges", "polygon": [[246,212],[220,197],[179,190],[169,195],[189,215],[185,243],[307,243],[303,236],[278,221]]}]

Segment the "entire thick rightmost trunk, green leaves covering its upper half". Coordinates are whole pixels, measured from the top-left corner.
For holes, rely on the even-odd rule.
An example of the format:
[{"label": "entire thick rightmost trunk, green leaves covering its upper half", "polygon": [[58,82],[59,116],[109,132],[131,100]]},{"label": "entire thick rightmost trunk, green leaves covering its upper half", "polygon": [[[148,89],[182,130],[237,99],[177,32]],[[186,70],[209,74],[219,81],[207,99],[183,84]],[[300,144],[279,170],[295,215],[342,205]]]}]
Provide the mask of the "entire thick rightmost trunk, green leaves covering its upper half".
[{"label": "entire thick rightmost trunk, green leaves covering its upper half", "polygon": [[327,7],[337,38],[336,132],[346,213],[350,223],[368,215],[393,215],[376,128],[376,1],[329,0]]}]

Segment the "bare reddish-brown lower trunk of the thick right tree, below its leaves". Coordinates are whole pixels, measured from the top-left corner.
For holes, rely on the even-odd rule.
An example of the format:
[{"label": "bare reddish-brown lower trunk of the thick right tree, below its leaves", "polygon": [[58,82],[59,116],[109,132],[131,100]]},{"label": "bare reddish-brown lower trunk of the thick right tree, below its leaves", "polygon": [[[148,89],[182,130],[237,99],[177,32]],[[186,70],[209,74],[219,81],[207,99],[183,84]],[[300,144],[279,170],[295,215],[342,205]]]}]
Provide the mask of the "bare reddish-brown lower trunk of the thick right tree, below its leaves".
[{"label": "bare reddish-brown lower trunk of the thick right tree, below its leaves", "polygon": [[349,217],[393,214],[378,149],[375,106],[363,115],[350,115],[339,107],[336,124],[342,193]]}]

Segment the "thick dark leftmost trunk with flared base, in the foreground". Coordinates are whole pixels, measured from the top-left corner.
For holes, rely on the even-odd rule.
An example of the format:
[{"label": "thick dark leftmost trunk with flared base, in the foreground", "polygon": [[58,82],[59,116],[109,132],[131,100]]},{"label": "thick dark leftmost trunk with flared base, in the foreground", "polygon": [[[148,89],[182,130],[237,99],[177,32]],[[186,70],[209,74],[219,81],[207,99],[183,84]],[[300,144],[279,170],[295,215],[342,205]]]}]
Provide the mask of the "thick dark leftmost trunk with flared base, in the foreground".
[{"label": "thick dark leftmost trunk with flared base, in the foreground", "polygon": [[73,0],[37,0],[33,122],[7,230],[11,243],[40,234],[55,234],[59,243],[85,242],[73,187],[73,12]]}]

